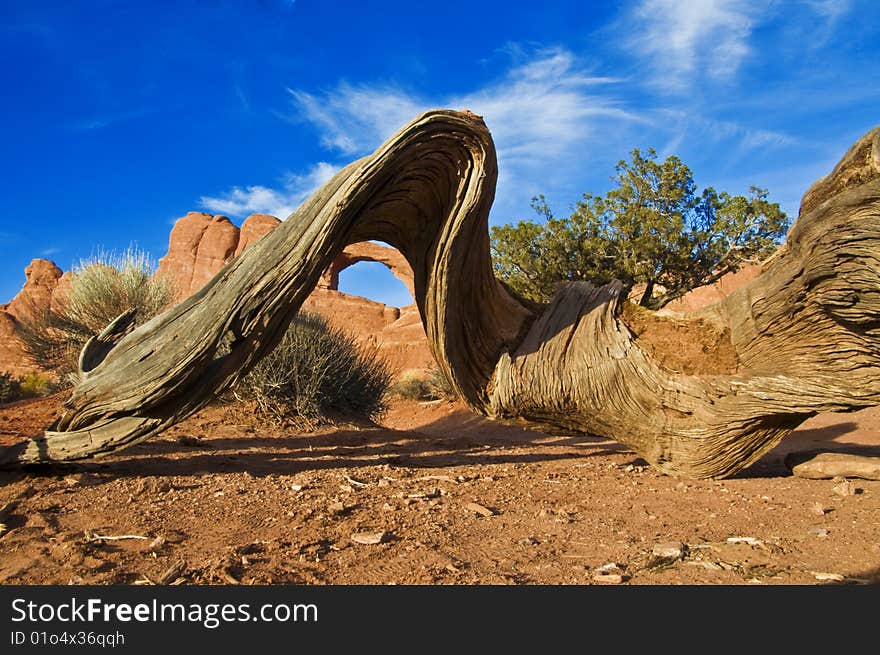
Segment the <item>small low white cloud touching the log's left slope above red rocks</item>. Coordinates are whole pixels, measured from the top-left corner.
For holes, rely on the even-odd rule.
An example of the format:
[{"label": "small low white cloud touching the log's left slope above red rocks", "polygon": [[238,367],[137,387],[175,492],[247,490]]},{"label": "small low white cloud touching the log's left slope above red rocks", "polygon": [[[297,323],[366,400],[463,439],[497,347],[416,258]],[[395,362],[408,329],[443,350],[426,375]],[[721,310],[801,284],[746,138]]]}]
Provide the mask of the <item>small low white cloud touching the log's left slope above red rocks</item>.
[{"label": "small low white cloud touching the log's left slope above red rocks", "polygon": [[226,216],[241,217],[260,213],[285,219],[338,170],[338,166],[318,162],[306,173],[289,173],[281,188],[235,186],[219,196],[202,196],[199,203],[206,209]]}]

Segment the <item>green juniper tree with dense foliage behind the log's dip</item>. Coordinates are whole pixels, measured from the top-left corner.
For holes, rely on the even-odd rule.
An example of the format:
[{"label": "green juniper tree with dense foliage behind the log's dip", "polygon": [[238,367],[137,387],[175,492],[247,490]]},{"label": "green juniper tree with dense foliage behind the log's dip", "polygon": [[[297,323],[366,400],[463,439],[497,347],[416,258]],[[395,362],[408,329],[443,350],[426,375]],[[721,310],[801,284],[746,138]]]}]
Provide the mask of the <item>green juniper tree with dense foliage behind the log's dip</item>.
[{"label": "green juniper tree with dense foliage behind the log's dip", "polygon": [[693,173],[675,156],[635,149],[621,160],[604,196],[585,194],[568,218],[543,196],[532,207],[543,223],[492,228],[496,273],[521,295],[548,301],[560,282],[621,280],[644,286],[639,304],[658,309],[744,263],[770,255],[789,218],[767,191],[748,197],[697,193]]}]

